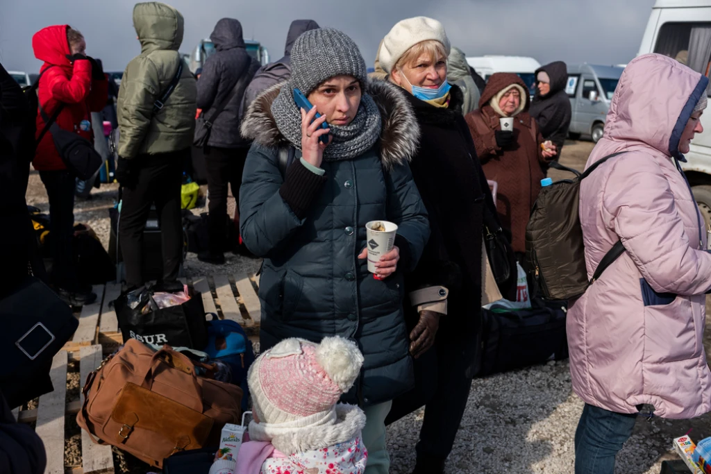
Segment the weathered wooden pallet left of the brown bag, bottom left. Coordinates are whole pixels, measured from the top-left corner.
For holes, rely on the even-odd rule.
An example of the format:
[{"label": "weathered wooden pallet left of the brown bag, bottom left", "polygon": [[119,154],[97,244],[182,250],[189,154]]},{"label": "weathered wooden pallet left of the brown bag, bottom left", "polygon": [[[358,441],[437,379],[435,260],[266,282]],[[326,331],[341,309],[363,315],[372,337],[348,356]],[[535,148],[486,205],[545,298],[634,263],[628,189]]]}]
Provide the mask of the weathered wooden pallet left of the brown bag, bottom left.
[{"label": "weathered wooden pallet left of the brown bag, bottom left", "polygon": [[[68,403],[67,394],[67,365],[69,361],[79,360],[80,392],[87,375],[99,367],[102,361],[101,345],[85,345],[70,354],[60,350],[52,362],[50,378],[54,385],[54,392],[43,395],[39,399],[36,409],[15,409],[14,414],[18,421],[35,423],[36,433],[42,438],[47,453],[47,467],[45,474],[99,474],[114,473],[114,458],[111,446],[102,446],[92,443],[89,435],[82,430],[82,465],[65,470],[65,416],[76,415],[84,402],[83,395],[80,401]],[[78,357],[77,357],[78,355]]]}]

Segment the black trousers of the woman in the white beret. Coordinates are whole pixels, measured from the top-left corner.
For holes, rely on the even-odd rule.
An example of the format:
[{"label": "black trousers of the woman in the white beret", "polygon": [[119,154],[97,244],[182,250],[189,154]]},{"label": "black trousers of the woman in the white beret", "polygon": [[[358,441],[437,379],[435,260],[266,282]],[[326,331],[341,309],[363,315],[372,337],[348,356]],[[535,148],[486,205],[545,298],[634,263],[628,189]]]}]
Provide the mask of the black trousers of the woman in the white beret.
[{"label": "black trousers of the woman in the white beret", "polygon": [[415,389],[392,401],[385,420],[390,424],[425,405],[415,446],[418,462],[444,462],[449,456],[476,372],[476,328],[466,327],[471,320],[461,321],[473,316],[452,309],[440,318],[434,346],[415,361]]}]

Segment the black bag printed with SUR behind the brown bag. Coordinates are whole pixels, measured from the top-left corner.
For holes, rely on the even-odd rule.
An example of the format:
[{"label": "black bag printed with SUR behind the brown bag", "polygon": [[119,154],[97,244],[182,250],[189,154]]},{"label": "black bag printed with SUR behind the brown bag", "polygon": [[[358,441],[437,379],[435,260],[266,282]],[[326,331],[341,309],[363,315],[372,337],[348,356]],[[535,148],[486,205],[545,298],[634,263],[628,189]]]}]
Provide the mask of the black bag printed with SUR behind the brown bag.
[{"label": "black bag printed with SUR behind the brown bag", "polygon": [[208,325],[201,293],[189,291],[188,301],[168,308],[159,308],[153,294],[150,286],[141,287],[122,293],[114,302],[124,341],[136,339],[146,344],[204,350]]}]

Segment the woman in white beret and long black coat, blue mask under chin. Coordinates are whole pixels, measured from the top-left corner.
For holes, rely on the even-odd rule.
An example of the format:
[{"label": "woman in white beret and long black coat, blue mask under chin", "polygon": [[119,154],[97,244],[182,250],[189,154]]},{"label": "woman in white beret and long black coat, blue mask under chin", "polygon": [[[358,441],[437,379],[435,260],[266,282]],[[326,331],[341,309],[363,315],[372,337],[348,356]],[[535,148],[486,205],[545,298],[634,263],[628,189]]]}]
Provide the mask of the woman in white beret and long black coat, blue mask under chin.
[{"label": "woman in white beret and long black coat, blue mask under chin", "polygon": [[[409,92],[422,131],[410,167],[427,207],[431,237],[406,281],[417,386],[393,401],[387,421],[427,404],[415,468],[415,473],[423,474],[444,472],[469,397],[476,372],[482,259],[486,258],[482,254],[484,209],[496,216],[461,115],[462,92],[447,84],[449,49],[442,24],[424,17],[397,23],[380,48],[380,65],[390,82]],[[513,260],[510,264],[515,265]]]}]

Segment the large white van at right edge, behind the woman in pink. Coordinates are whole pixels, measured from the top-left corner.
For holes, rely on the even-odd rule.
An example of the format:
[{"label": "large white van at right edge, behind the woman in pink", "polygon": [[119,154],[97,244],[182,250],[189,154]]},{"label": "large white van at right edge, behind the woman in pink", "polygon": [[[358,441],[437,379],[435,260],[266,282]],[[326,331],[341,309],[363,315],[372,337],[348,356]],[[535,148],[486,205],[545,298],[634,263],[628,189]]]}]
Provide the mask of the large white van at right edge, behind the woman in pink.
[{"label": "large white van at right edge, behind the woman in pink", "polygon": [[[639,54],[659,53],[709,75],[711,0],[657,0]],[[690,48],[691,46],[691,48]],[[711,225],[711,113],[701,117],[704,133],[691,142],[682,168],[692,185],[706,225]]]}]

